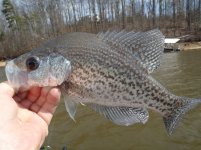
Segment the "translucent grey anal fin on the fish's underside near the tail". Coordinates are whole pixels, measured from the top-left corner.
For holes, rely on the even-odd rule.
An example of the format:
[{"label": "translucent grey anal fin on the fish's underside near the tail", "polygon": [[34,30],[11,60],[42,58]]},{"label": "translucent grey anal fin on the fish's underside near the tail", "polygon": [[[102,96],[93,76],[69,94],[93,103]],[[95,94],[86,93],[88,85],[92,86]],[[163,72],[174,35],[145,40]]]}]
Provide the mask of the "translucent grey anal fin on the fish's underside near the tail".
[{"label": "translucent grey anal fin on the fish's underside near the tail", "polygon": [[149,113],[145,108],[110,107],[98,104],[87,104],[87,106],[118,125],[145,124],[149,118]]}]

